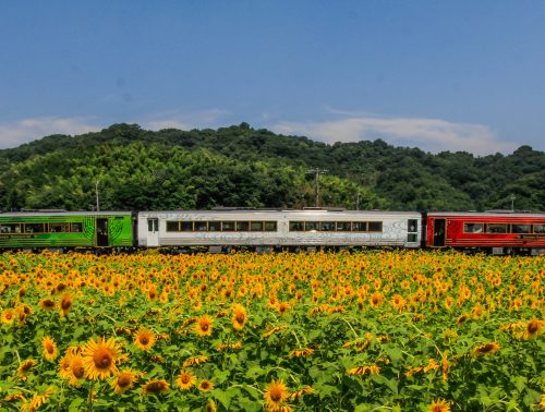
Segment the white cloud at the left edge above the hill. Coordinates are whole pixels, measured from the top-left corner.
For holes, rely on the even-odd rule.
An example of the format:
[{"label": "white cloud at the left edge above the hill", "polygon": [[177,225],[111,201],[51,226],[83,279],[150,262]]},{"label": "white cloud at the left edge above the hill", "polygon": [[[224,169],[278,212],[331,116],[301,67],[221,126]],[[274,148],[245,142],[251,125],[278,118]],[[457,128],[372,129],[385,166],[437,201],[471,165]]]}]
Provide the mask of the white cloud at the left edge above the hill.
[{"label": "white cloud at the left edge above the hill", "polygon": [[102,128],[83,118],[31,118],[0,123],[0,148],[16,147],[51,134],[82,134]]}]

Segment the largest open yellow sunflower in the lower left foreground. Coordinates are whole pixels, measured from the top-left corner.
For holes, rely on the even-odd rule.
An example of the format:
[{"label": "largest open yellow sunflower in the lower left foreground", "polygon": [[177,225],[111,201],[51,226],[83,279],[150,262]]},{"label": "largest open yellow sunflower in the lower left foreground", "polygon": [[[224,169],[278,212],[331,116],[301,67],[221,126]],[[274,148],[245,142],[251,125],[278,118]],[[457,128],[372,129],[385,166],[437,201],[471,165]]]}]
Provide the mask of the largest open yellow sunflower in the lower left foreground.
[{"label": "largest open yellow sunflower in the lower left foreground", "polygon": [[92,379],[106,379],[118,373],[116,361],[120,355],[120,348],[113,338],[90,338],[83,348],[83,364],[86,376]]}]

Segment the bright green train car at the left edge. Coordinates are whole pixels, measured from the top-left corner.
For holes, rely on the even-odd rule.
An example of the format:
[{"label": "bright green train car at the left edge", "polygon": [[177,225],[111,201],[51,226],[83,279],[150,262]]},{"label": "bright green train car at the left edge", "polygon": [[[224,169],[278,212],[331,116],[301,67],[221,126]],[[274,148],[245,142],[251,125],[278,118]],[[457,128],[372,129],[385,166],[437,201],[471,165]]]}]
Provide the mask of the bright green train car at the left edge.
[{"label": "bright green train car at the left edge", "polygon": [[0,213],[0,249],[133,246],[130,211]]}]

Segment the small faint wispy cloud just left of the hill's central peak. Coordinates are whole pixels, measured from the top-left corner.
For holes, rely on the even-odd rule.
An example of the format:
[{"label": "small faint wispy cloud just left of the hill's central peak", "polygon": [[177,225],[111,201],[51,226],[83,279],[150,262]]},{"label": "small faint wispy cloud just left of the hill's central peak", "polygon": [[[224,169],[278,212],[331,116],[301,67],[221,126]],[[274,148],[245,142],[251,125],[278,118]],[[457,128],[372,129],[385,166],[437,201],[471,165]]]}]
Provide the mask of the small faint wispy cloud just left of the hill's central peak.
[{"label": "small faint wispy cloud just left of the hill's central peak", "polygon": [[222,109],[208,109],[192,112],[168,111],[157,113],[144,121],[142,126],[149,130],[161,129],[204,129],[219,125],[218,122],[231,113]]}]

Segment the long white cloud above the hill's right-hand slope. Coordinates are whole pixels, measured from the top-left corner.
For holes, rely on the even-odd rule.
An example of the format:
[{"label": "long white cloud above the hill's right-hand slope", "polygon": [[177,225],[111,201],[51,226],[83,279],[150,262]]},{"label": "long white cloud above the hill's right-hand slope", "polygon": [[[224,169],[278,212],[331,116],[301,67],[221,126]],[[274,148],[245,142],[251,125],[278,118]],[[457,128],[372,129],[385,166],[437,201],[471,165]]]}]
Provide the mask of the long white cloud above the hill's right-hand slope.
[{"label": "long white cloud above the hill's right-hand slope", "polygon": [[469,152],[475,155],[511,153],[517,145],[500,142],[486,125],[453,123],[440,119],[349,117],[324,122],[280,122],[270,126],[282,134],[305,135],[325,143],[383,138],[393,144],[438,153]]}]

